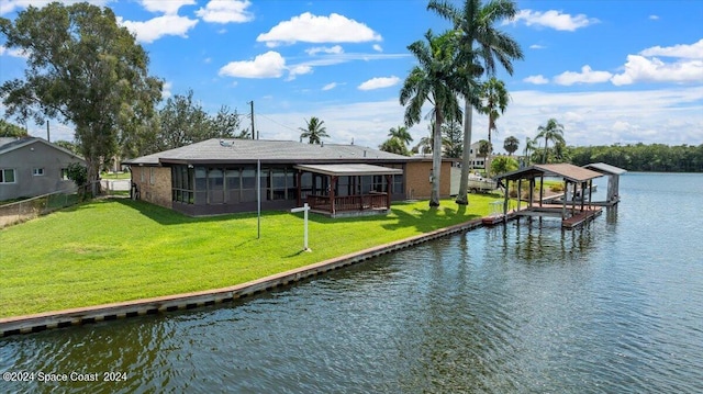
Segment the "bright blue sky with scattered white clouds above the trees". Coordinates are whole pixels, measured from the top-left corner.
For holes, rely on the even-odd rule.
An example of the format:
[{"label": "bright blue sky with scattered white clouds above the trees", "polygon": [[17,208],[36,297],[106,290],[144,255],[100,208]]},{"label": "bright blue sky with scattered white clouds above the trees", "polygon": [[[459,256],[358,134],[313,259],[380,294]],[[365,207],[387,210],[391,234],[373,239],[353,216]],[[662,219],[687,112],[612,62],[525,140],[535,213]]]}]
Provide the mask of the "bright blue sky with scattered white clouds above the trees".
[{"label": "bright blue sky with scattered white clouds above the trees", "polygon": [[[298,127],[317,116],[328,142],[371,147],[403,122],[399,90],[415,65],[408,45],[428,29],[450,27],[426,0],[91,2],[112,8],[136,35],[165,98],[192,89],[210,112],[224,104],[248,113],[254,101],[260,138],[298,140]],[[0,0],[0,16],[45,3]],[[525,59],[513,76],[498,75],[512,98],[498,121],[498,151],[504,137],[524,142],[550,117],[565,125],[569,145],[703,144],[703,1],[517,5],[501,29]],[[0,47],[0,82],[23,68],[20,54]],[[415,142],[427,124],[410,130]],[[486,138],[487,128],[486,116],[475,115],[472,139]],[[56,124],[52,139],[72,139],[70,125]]]}]

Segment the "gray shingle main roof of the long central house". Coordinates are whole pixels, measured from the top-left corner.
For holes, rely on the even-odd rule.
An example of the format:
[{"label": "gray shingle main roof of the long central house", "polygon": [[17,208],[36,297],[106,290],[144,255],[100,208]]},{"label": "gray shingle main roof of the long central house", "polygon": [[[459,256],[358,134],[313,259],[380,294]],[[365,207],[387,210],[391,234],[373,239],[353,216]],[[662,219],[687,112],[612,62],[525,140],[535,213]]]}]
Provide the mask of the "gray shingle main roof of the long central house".
[{"label": "gray shingle main roof of the long central house", "polygon": [[138,157],[125,165],[234,164],[234,162],[373,162],[408,161],[409,158],[358,145],[311,145],[291,140],[211,138],[176,149]]}]

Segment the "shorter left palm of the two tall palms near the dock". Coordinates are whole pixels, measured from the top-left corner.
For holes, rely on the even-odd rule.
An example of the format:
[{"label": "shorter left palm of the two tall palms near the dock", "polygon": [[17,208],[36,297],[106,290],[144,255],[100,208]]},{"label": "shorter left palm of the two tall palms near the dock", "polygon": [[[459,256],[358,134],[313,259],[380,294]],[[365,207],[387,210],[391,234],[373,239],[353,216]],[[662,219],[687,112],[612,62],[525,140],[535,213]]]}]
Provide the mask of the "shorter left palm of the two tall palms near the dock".
[{"label": "shorter left palm of the two tall palms near the dock", "polygon": [[432,30],[425,33],[426,43],[416,41],[408,46],[419,65],[410,70],[400,90],[401,105],[405,108],[405,125],[411,127],[420,123],[422,106],[429,102],[434,116],[432,149],[432,193],[429,206],[439,205],[439,179],[442,169],[442,123],[445,119],[458,120],[461,109],[455,94],[457,83],[454,54],[449,46],[450,37],[445,34],[434,36]]}]

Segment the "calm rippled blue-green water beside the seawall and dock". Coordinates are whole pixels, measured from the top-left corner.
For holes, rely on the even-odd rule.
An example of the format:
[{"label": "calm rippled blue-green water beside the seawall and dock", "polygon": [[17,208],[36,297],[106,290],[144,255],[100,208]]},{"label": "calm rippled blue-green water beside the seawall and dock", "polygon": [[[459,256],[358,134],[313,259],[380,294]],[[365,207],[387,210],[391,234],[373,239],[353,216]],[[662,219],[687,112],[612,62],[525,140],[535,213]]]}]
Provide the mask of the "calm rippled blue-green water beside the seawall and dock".
[{"label": "calm rippled blue-green water beside the seawall and dock", "polygon": [[621,196],[581,229],[521,219],[245,303],[0,339],[0,372],[126,373],[0,392],[702,393],[703,175],[628,173]]}]

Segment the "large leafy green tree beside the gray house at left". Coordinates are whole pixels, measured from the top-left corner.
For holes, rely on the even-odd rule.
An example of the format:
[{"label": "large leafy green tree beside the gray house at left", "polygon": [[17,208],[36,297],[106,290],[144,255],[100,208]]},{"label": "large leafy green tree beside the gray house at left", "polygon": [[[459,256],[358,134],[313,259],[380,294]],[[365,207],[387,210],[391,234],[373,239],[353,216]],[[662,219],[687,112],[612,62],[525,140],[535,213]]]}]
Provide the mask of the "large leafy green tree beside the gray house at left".
[{"label": "large leafy green tree beside the gray house at left", "polygon": [[0,19],[7,48],[27,55],[25,79],[5,81],[5,113],[25,121],[72,123],[75,140],[97,180],[121,135],[152,116],[161,81],[148,76],[148,56],[112,10],[89,3],[29,7],[14,21]]}]

